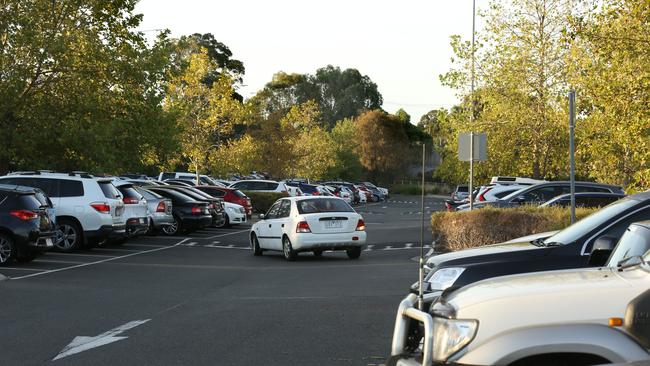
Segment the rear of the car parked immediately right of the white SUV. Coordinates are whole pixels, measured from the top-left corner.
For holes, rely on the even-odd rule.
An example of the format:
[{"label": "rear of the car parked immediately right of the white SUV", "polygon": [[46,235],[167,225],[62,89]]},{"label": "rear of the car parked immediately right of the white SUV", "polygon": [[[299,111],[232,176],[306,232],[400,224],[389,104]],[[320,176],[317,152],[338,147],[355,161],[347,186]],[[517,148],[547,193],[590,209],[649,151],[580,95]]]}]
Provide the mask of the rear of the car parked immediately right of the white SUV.
[{"label": "rear of the car parked immediately right of the white SUV", "polygon": [[138,192],[133,183],[114,180],[113,185],[122,194],[124,202],[124,218],[126,220],[126,237],[114,239],[114,243],[123,243],[128,237],[145,234],[149,231],[149,218],[147,213],[147,201]]}]

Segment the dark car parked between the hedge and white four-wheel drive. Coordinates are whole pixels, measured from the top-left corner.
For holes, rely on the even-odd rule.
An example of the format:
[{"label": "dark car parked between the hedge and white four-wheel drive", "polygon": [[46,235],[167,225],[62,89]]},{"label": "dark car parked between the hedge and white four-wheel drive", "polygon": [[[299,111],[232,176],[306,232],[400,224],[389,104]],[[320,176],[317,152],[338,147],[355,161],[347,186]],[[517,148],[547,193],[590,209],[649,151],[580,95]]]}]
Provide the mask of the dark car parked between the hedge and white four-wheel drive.
[{"label": "dark car parked between the hedge and white four-wheel drive", "polygon": [[425,290],[517,273],[601,266],[627,227],[650,219],[650,191],[620,199],[546,239],[495,244],[427,259]]}]

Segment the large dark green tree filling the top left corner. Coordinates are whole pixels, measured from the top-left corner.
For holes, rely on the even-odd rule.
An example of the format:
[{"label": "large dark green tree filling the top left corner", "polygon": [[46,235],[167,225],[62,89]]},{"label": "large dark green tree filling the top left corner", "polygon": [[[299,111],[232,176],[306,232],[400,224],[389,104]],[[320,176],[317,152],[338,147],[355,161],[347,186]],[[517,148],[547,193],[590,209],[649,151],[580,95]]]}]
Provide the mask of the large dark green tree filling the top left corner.
[{"label": "large dark green tree filling the top left corner", "polygon": [[153,169],[171,153],[173,121],[160,107],[166,33],[147,47],[132,31],[135,3],[2,5],[0,172]]}]

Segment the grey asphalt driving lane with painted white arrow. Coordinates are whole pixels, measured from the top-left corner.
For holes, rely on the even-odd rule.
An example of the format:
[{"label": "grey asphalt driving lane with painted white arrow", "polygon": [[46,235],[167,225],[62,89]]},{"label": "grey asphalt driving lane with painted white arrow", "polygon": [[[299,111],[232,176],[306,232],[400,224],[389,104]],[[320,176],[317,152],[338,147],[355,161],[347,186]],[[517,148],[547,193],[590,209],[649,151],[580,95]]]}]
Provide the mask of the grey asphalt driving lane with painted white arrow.
[{"label": "grey asphalt driving lane with painted white arrow", "polygon": [[[425,207],[441,210],[443,199]],[[396,196],[357,210],[368,232],[357,261],[253,257],[242,226],[0,268],[10,278],[0,282],[0,364],[381,364],[417,277],[420,202]]]}]

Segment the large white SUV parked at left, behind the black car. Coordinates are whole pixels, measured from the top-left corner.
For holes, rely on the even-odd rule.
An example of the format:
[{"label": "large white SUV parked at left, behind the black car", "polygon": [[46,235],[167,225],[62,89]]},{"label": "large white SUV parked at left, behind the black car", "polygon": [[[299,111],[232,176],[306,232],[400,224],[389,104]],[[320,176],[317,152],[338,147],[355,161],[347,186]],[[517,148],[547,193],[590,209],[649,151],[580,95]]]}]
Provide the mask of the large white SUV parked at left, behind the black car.
[{"label": "large white SUV parked at left, behind the black car", "polygon": [[86,173],[20,172],[0,177],[0,183],[40,188],[50,197],[62,232],[55,244],[59,250],[125,235],[124,203],[111,179]]}]

